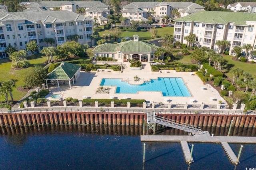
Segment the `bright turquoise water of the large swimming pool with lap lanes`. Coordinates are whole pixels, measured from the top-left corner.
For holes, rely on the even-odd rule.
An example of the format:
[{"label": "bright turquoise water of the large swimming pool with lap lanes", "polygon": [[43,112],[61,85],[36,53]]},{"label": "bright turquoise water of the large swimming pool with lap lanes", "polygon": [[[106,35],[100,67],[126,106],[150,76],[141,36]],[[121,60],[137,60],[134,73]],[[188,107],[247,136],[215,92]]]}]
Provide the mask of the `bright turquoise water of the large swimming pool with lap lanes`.
[{"label": "bright turquoise water of the large swimming pool with lap lanes", "polygon": [[142,85],[130,85],[122,79],[102,79],[101,86],[116,86],[116,93],[138,93],[138,91],[161,91],[163,96],[191,97],[184,81],[180,77],[159,77]]}]

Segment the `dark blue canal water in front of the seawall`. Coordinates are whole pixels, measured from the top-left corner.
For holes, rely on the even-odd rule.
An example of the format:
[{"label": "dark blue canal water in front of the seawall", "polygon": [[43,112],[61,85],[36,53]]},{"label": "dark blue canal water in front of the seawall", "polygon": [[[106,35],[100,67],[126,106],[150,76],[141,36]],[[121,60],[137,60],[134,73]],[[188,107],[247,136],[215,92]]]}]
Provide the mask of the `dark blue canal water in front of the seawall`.
[{"label": "dark blue canal water in front of the seawall", "polygon": [[[215,135],[227,128],[208,127]],[[146,142],[143,166],[142,126],[44,125],[0,129],[0,169],[90,170],[245,170],[256,168],[256,144],[243,144],[240,164],[232,165],[220,144],[193,143],[194,163],[186,164],[180,143]],[[160,128],[160,135],[187,135]],[[255,128],[232,129],[234,136],[256,136]],[[190,147],[192,143],[189,143]],[[241,144],[230,144],[238,155]]]}]

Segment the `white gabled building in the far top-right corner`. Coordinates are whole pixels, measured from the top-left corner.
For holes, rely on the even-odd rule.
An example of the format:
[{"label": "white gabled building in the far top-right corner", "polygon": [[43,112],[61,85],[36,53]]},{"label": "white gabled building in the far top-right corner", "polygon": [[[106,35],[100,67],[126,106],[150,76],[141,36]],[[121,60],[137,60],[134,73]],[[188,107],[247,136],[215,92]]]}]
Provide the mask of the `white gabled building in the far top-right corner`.
[{"label": "white gabled building in the far top-right corner", "polygon": [[245,10],[246,12],[256,12],[256,2],[236,2],[234,4],[229,4],[227,8],[234,12],[240,10]]}]

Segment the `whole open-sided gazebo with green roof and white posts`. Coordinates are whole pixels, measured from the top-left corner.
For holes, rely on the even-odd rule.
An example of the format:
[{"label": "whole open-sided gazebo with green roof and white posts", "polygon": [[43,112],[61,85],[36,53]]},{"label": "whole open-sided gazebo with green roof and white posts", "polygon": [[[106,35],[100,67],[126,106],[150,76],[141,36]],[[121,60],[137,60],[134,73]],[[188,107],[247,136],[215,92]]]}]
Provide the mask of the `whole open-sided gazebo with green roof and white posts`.
[{"label": "whole open-sided gazebo with green roof and white posts", "polygon": [[48,87],[48,81],[51,85],[69,85],[76,82],[76,79],[80,76],[81,67],[72,63],[61,62],[60,65],[50,72],[46,77],[46,87]]}]

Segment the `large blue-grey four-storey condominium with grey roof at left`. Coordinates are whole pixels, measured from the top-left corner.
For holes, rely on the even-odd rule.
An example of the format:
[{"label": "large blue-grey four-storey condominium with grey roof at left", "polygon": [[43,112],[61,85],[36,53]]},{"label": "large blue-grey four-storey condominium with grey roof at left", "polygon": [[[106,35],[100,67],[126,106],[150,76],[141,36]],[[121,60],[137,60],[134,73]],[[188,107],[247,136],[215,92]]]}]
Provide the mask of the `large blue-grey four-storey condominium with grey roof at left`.
[{"label": "large blue-grey four-storey condominium with grey roof at left", "polygon": [[0,58],[8,57],[5,49],[9,44],[20,50],[34,40],[42,49],[46,47],[44,38],[61,45],[75,34],[78,43],[92,45],[92,18],[69,11],[0,12]]}]

